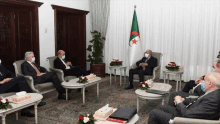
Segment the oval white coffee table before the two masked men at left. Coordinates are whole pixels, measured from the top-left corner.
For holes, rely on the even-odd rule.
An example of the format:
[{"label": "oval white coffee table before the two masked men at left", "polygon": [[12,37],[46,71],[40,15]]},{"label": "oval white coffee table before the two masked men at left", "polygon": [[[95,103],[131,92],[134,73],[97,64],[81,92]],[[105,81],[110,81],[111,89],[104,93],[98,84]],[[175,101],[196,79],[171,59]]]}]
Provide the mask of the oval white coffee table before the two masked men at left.
[{"label": "oval white coffee table before the two masked men at left", "polygon": [[63,82],[62,86],[66,89],[66,100],[68,98],[68,89],[83,89],[83,105],[85,104],[85,88],[97,84],[97,97],[99,97],[99,81],[101,80],[100,77],[96,77],[94,80],[88,81],[88,83],[77,83],[79,79],[75,78],[69,80],[69,82]]}]

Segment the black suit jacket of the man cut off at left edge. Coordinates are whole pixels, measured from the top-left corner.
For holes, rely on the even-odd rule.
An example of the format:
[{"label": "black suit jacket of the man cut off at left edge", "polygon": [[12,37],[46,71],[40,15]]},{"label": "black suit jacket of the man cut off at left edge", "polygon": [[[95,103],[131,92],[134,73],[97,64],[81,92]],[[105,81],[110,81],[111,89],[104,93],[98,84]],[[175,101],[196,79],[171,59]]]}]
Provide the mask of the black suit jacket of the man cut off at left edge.
[{"label": "black suit jacket of the man cut off at left edge", "polygon": [[7,70],[3,65],[0,64],[0,81],[5,78],[14,78],[15,74]]}]

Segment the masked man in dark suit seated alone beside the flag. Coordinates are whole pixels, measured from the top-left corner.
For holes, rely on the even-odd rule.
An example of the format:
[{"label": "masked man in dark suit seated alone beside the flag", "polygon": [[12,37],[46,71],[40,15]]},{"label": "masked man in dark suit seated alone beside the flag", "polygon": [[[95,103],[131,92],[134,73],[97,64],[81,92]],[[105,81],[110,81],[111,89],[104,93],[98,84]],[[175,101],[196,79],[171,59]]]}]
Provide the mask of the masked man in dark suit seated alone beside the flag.
[{"label": "masked man in dark suit seated alone beside the flag", "polygon": [[157,58],[152,56],[151,50],[147,50],[145,52],[145,57],[137,61],[136,65],[138,66],[137,68],[129,70],[130,85],[126,89],[133,88],[133,75],[134,74],[139,74],[140,82],[144,81],[144,75],[152,75],[153,69],[157,66]]}]

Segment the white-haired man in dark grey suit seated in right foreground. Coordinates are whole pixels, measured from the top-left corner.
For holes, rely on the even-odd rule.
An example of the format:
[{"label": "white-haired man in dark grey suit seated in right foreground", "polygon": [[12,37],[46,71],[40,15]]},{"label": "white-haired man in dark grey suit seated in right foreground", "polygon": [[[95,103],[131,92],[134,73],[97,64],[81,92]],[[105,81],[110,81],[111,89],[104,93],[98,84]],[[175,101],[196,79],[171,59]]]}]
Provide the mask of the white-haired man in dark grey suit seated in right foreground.
[{"label": "white-haired man in dark grey suit seated in right foreground", "polygon": [[[148,124],[168,124],[174,117],[218,120],[220,113],[220,73],[208,73],[202,84],[205,94],[197,99],[184,99],[176,96],[176,107],[163,105],[150,112]],[[185,100],[190,101],[184,105]]]}]

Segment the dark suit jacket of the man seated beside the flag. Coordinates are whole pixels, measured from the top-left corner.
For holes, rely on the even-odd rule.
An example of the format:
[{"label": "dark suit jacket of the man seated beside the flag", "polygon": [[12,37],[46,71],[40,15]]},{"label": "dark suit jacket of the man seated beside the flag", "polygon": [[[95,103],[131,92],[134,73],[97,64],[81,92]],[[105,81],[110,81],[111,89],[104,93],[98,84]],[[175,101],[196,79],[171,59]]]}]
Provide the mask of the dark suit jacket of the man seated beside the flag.
[{"label": "dark suit jacket of the man seated beside the flag", "polygon": [[[139,66],[140,63],[146,61],[146,57],[143,57],[141,60],[136,62],[136,65],[138,66],[137,69],[143,69],[143,67]],[[157,66],[157,58],[151,56],[150,59],[146,62],[147,66],[150,68],[150,71],[153,72],[153,69]]]}]

